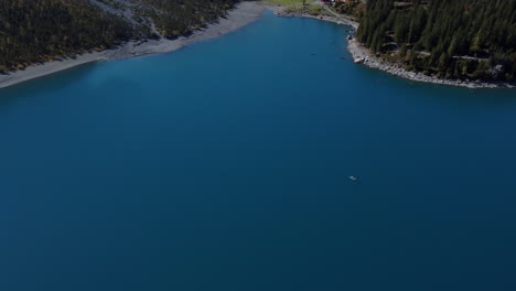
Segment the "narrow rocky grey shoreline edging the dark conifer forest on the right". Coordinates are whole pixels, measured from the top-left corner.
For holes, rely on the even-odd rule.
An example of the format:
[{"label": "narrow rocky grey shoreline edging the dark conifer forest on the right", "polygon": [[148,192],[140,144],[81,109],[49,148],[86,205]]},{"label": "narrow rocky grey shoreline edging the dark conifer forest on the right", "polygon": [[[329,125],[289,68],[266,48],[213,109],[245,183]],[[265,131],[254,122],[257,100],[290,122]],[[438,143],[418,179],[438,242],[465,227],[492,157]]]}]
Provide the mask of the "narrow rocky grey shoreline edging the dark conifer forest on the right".
[{"label": "narrow rocky grey shoreline edging the dark conifer forest on the right", "polygon": [[[358,29],[358,23],[346,18],[329,17],[329,15],[312,15],[301,11],[288,11],[286,7],[271,7],[268,6],[268,9],[275,11],[275,14],[283,18],[311,18],[322,21],[329,21],[336,24],[343,24],[352,26],[355,31]],[[347,51],[352,54],[353,62],[355,64],[363,64],[370,68],[376,68],[384,71],[390,75],[401,77],[405,79],[422,82],[422,83],[432,83],[438,85],[450,85],[465,87],[470,89],[480,89],[480,88],[516,88],[516,84],[509,83],[495,83],[495,82],[481,82],[481,80],[461,80],[461,79],[443,79],[436,76],[427,76],[422,73],[410,72],[401,67],[396,63],[388,63],[379,60],[374,56],[369,48],[365,47],[356,41],[354,36],[347,40]]]}]

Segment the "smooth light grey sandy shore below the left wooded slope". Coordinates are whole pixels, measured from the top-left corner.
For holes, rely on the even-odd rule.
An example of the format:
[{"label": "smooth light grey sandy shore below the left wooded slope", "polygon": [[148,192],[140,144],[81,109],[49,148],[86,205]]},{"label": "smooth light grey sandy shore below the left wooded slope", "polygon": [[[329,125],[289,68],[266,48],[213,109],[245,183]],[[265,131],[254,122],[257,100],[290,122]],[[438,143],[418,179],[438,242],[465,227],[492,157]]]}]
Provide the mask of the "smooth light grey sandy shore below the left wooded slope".
[{"label": "smooth light grey sandy shore below the left wooded slope", "polygon": [[97,61],[111,61],[135,57],[147,54],[168,53],[179,50],[193,42],[208,40],[243,28],[259,19],[265,7],[260,2],[241,2],[235,9],[228,11],[226,18],[217,23],[209,24],[206,29],[194,32],[189,37],[178,40],[149,40],[143,43],[129,42],[114,50],[86,53],[63,61],[53,61],[40,65],[30,66],[7,75],[0,75],[0,88],[12,86],[25,80],[50,75],[74,66]]}]

